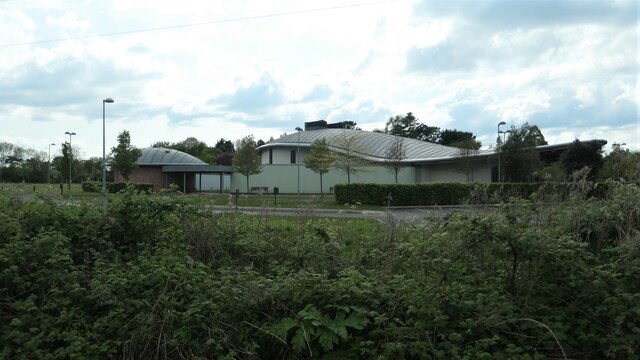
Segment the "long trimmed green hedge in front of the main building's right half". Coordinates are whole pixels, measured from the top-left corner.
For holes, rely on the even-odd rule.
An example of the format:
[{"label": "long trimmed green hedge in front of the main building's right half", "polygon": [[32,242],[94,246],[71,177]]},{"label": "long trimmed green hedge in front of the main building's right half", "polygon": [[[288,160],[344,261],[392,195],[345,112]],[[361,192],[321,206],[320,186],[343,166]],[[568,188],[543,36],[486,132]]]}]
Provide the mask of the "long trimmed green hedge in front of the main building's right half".
[{"label": "long trimmed green hedge in front of the main building's right half", "polygon": [[[543,191],[538,191],[538,190]],[[602,197],[608,186],[590,183],[428,183],[428,184],[337,184],[338,203],[385,206],[463,205],[500,203],[510,197],[565,201],[571,194]]]}]

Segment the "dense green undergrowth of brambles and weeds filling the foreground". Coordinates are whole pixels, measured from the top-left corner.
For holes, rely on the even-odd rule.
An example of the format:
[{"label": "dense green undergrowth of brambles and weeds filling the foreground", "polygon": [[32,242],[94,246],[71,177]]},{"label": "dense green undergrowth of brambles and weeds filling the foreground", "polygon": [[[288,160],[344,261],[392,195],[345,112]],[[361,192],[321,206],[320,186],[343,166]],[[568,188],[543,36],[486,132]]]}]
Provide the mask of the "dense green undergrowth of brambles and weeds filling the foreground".
[{"label": "dense green undergrowth of brambles and weeds filling the foreground", "polygon": [[640,190],[611,185],[419,227],[0,199],[0,354],[638,358]]}]

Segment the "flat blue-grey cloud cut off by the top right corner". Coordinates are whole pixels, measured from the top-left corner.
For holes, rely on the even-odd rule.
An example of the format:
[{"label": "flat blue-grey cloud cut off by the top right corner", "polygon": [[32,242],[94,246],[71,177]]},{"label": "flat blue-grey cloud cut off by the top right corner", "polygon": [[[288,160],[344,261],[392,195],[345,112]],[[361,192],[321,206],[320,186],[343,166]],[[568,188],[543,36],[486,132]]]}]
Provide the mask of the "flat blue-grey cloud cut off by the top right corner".
[{"label": "flat blue-grey cloud cut off by the top right corner", "polygon": [[586,23],[633,25],[638,19],[636,1],[610,0],[426,0],[416,5],[415,11],[421,16],[461,17],[498,28]]}]

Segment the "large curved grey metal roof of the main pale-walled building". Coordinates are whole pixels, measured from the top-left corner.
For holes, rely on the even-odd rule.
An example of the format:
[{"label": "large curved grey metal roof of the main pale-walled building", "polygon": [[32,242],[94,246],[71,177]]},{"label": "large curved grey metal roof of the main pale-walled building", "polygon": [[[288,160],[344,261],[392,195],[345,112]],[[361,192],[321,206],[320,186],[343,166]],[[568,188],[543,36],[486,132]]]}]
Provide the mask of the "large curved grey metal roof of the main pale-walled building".
[{"label": "large curved grey metal roof of the main pale-walled building", "polygon": [[[356,137],[356,148],[361,149],[363,158],[370,161],[385,161],[385,152],[395,139],[394,135],[352,129],[321,129],[301,131],[300,146],[309,147],[317,139],[324,138],[329,146],[334,150],[342,150],[340,147],[341,138]],[[460,157],[460,149],[434,144],[427,141],[400,137],[403,147],[406,150],[406,162],[443,160]],[[342,141],[344,143],[344,141]],[[298,146],[298,133],[282,136],[276,140],[262,145],[258,149],[269,147],[291,147]],[[480,153],[485,151],[480,150]]]}]

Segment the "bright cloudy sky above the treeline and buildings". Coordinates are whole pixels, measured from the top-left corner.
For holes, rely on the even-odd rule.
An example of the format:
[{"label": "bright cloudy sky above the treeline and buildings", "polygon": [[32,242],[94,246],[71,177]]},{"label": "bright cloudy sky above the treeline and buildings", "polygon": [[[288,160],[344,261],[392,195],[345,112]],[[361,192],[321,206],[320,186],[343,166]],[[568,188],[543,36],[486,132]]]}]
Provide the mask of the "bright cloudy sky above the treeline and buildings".
[{"label": "bright cloudy sky above the treeline and buildings", "polygon": [[[639,9],[617,0],[0,0],[0,141],[102,154],[413,112],[640,150]],[[503,127],[504,129],[504,127]],[[59,147],[58,147],[59,148]]]}]

